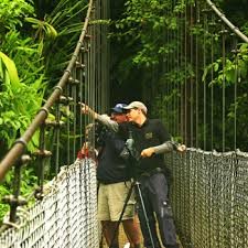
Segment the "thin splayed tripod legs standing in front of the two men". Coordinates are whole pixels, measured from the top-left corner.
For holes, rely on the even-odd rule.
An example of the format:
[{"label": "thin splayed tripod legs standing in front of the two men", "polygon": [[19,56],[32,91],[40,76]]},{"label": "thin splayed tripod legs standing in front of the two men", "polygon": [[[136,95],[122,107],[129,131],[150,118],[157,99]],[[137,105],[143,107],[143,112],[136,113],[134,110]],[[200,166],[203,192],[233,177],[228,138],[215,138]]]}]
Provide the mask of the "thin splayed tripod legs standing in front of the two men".
[{"label": "thin splayed tripod legs standing in front of the two men", "polygon": [[126,207],[128,205],[128,201],[131,197],[133,188],[136,190],[136,196],[139,197],[139,203],[141,205],[141,209],[142,209],[142,213],[143,213],[143,216],[144,216],[144,219],[145,219],[145,225],[147,225],[147,228],[148,228],[148,233],[149,233],[149,237],[150,237],[150,240],[151,240],[152,248],[155,248],[154,240],[153,240],[152,233],[151,233],[151,228],[150,228],[150,225],[149,225],[149,219],[148,219],[148,215],[147,215],[143,197],[142,197],[142,193],[141,193],[141,190],[140,190],[140,182],[138,182],[137,180],[133,180],[133,179],[131,180],[130,190],[129,190],[129,192],[127,194],[127,197],[125,200],[125,204],[123,204],[120,217],[119,217],[119,219],[117,222],[117,226],[115,228],[114,236],[112,236],[111,241],[110,241],[110,246],[109,246],[110,248],[111,248],[111,246],[112,246],[112,244],[115,241],[115,238],[116,238],[116,235],[118,233],[118,229],[119,229],[122,216],[123,216]]}]

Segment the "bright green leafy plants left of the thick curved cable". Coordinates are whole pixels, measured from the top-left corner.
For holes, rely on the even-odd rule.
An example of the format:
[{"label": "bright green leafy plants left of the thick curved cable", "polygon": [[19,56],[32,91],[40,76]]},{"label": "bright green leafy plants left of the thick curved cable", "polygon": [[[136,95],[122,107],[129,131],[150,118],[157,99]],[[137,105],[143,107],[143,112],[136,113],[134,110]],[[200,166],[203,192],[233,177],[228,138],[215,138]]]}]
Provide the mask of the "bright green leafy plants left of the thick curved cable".
[{"label": "bright green leafy plants left of the thick curved cable", "polygon": [[[0,1],[0,159],[30,125],[62,76],[80,34],[86,9],[86,0]],[[29,151],[37,144],[35,133]],[[32,164],[23,170],[22,195],[30,194],[37,183],[34,170]],[[12,179],[10,171],[0,185],[0,196],[11,194]],[[7,209],[0,204],[0,218]]]}]

